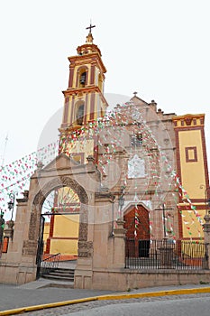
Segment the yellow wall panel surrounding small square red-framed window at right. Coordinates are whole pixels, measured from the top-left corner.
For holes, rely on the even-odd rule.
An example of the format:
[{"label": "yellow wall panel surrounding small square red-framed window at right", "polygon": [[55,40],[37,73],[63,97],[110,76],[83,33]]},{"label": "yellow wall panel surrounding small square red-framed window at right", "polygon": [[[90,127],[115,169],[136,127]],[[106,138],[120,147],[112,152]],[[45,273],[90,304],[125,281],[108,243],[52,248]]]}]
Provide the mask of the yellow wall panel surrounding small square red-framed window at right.
[{"label": "yellow wall panel surrounding small square red-framed window at right", "polygon": [[[205,184],[204,155],[200,130],[180,131],[178,133],[181,181],[190,199],[205,199],[205,190],[200,186]],[[186,162],[186,147],[196,146],[197,162]]]}]

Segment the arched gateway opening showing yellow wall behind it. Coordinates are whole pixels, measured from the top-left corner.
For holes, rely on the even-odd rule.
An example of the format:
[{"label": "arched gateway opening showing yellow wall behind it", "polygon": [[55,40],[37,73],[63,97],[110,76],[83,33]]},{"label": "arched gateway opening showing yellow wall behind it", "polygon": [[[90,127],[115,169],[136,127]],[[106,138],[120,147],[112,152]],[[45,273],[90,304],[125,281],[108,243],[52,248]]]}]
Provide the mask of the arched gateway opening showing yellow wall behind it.
[{"label": "arched gateway opening showing yellow wall behind it", "polygon": [[38,276],[41,261],[77,259],[79,209],[78,194],[69,187],[51,191],[44,200],[36,260]]}]

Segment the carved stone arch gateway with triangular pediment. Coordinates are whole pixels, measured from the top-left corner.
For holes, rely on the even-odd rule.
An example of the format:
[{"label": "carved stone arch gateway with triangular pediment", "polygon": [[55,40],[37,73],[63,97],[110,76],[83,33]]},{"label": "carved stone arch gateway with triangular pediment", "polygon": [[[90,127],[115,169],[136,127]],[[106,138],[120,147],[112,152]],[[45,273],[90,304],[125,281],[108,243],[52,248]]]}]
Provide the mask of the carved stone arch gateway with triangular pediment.
[{"label": "carved stone arch gateway with triangular pediment", "polygon": [[[94,179],[93,185],[90,178]],[[70,187],[78,194],[81,203],[78,257],[91,257],[93,240],[88,237],[88,207],[89,204],[94,204],[93,192],[97,191],[97,186],[99,187],[99,177],[92,161],[86,165],[78,164],[64,153],[60,153],[43,169],[38,167],[32,175],[30,190],[24,192],[23,199],[17,200],[14,237],[9,241],[7,253],[1,258],[0,282],[28,283],[36,279],[41,207],[50,191],[61,187]]]}]

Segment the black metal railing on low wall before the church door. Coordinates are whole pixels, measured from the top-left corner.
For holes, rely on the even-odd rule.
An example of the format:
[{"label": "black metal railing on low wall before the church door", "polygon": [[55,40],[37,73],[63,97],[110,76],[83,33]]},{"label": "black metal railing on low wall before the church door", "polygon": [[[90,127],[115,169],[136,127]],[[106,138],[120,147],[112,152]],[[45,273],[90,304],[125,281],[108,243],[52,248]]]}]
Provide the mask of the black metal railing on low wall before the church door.
[{"label": "black metal railing on low wall before the church door", "polygon": [[207,246],[202,241],[126,238],[125,268],[208,269]]}]

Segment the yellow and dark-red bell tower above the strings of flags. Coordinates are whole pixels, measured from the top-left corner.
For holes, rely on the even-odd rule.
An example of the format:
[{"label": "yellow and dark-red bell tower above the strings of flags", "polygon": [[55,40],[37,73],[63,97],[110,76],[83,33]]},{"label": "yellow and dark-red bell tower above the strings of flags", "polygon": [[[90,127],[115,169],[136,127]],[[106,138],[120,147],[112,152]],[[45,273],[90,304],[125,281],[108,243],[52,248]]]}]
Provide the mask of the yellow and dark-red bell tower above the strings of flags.
[{"label": "yellow and dark-red bell tower above the strings of flags", "polygon": [[78,46],[78,54],[68,57],[68,88],[63,91],[65,102],[60,135],[67,135],[78,130],[88,122],[104,116],[107,103],[105,101],[105,65],[101,59],[101,51],[93,43],[92,28],[87,27],[87,41]]}]

